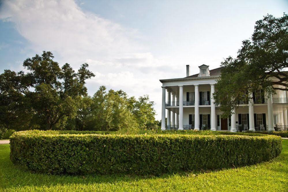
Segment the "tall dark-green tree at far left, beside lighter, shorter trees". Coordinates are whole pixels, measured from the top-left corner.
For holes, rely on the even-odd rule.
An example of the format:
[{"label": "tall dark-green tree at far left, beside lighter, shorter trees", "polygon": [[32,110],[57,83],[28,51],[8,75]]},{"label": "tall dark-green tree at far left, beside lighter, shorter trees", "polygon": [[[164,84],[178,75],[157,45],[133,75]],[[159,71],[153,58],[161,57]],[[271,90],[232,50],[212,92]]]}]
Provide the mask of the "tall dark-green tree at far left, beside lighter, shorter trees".
[{"label": "tall dark-green tree at far left, beside lighter, shorter trees", "polygon": [[35,55],[23,62],[27,74],[10,70],[1,74],[3,105],[0,110],[4,114],[1,121],[9,122],[6,126],[11,124],[12,118],[19,119],[22,114],[30,118],[27,120],[29,127],[63,128],[67,117],[75,116],[77,98],[87,95],[85,80],[95,75],[87,69],[86,63],[76,73],[67,63],[60,68],[53,58],[51,52],[43,51],[41,56]]}]

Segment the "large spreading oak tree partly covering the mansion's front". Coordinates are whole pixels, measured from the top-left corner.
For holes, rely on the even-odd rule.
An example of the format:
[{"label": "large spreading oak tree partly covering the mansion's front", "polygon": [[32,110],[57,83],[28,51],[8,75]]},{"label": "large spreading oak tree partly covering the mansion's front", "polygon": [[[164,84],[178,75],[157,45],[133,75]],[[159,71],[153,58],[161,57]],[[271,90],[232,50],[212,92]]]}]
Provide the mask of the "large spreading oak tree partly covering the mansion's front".
[{"label": "large spreading oak tree partly covering the mansion's front", "polygon": [[236,58],[222,63],[221,79],[213,95],[220,103],[223,116],[231,114],[239,100],[251,92],[263,90],[267,95],[287,89],[288,72],[288,15],[280,18],[266,15],[255,23],[251,40],[244,40]]}]

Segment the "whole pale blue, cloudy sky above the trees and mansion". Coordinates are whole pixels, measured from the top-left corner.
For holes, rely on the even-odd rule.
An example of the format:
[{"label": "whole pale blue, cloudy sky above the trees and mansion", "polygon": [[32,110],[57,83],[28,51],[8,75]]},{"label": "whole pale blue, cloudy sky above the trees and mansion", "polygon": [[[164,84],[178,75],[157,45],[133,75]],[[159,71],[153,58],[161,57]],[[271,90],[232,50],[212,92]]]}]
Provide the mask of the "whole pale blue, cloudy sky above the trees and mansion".
[{"label": "whole pale blue, cloudy sky above the trees and mansion", "polygon": [[159,79],[217,68],[235,57],[266,14],[281,17],[288,0],[88,1],[0,0],[0,73],[26,70],[23,61],[52,51],[60,66],[88,63],[99,86],[148,95],[161,119]]}]

